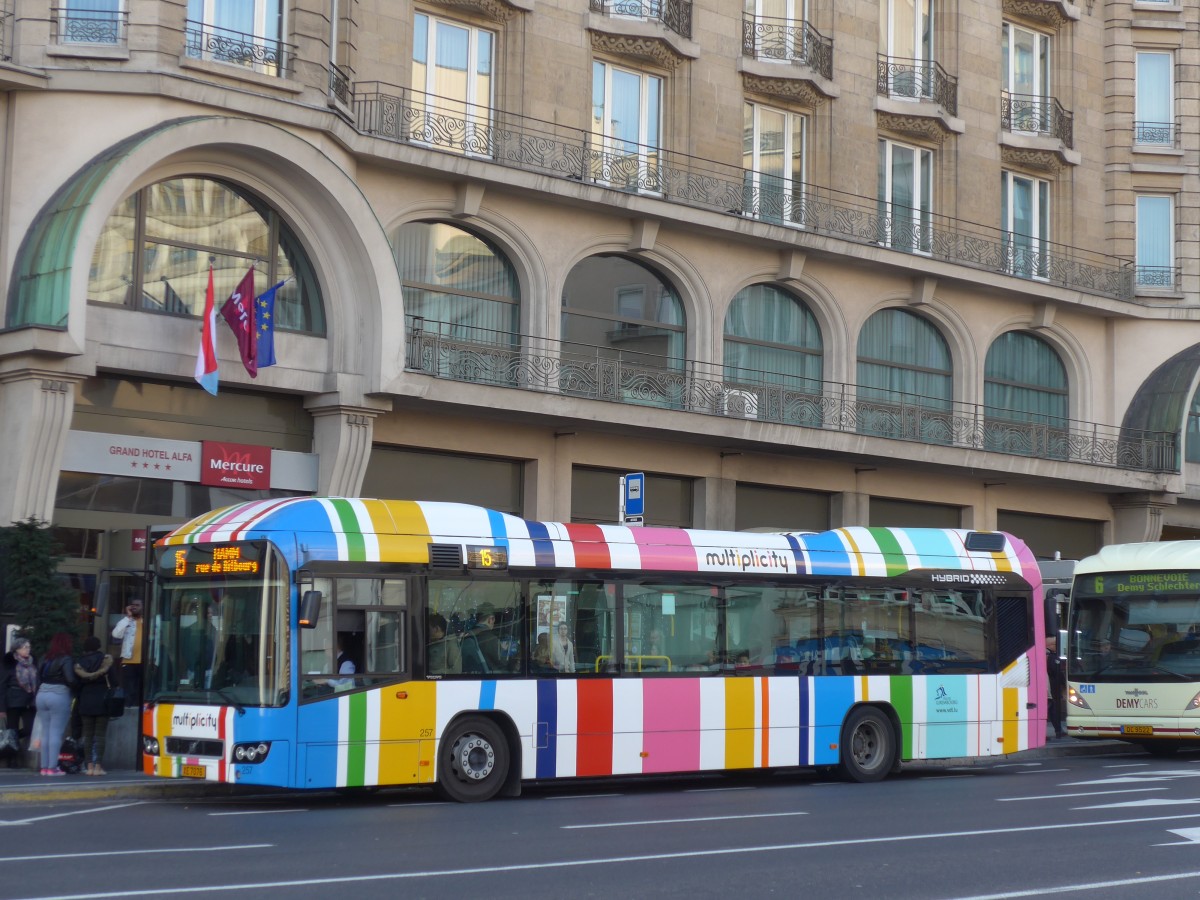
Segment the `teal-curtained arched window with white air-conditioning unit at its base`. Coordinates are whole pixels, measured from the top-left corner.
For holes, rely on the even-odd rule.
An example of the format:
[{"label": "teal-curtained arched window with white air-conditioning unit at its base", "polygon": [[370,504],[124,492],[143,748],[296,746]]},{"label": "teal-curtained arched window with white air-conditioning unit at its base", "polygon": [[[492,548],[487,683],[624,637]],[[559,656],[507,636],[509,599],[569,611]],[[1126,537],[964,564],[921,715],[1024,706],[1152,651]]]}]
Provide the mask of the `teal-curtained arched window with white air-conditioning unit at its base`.
[{"label": "teal-curtained arched window with white air-conditioning unit at its base", "polygon": [[772,284],[739,290],[725,314],[725,380],[736,386],[719,412],[755,418],[755,385],[782,385],[784,420],[818,426],[821,374],[821,329],[804,301]]}]

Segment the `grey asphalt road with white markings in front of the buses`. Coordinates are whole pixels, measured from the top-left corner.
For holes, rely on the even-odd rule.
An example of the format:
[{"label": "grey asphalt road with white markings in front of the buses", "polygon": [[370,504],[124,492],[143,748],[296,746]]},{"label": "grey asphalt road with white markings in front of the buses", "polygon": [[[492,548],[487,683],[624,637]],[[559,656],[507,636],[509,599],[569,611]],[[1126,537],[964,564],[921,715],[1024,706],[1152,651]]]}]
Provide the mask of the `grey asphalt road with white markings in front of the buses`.
[{"label": "grey asphalt road with white markings in front of the buses", "polygon": [[0,896],[1195,898],[1200,755],[0,809]]}]

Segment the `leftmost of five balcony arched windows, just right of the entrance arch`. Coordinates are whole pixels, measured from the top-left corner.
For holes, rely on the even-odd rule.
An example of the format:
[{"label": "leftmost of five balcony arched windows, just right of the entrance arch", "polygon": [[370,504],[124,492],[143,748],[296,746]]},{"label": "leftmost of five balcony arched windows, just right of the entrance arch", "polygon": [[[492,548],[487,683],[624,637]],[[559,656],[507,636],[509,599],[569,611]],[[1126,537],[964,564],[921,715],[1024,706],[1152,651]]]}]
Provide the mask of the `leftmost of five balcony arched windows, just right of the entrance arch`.
[{"label": "leftmost of five balcony arched windows, just right of the entrance arch", "polygon": [[422,330],[479,343],[516,346],[521,287],[504,252],[446,222],[396,229],[404,311]]}]

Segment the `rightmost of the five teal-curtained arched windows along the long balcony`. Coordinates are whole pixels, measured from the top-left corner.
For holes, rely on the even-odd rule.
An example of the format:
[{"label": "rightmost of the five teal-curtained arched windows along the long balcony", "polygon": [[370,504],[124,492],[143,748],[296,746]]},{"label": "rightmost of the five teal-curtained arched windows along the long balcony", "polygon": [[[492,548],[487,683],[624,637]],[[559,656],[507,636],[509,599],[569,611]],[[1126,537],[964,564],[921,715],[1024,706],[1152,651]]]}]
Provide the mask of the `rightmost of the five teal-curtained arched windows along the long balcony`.
[{"label": "rightmost of the five teal-curtained arched windows along the long balcony", "polygon": [[1045,458],[1068,455],[1067,367],[1027,331],[1007,331],[984,361],[984,448]]}]

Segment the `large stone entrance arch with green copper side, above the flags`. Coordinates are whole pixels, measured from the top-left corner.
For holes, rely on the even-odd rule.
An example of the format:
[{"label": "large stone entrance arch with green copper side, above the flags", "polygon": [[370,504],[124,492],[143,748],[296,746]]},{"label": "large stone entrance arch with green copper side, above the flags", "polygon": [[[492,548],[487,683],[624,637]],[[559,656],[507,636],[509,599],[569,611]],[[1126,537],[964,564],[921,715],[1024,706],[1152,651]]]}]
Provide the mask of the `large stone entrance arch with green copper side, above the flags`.
[{"label": "large stone entrance arch with green copper side, above the flags", "polygon": [[[10,282],[10,326],[65,328],[78,347],[86,346],[89,269],[108,216],[136,191],[184,174],[234,181],[288,221],[320,286],[336,372],[358,377],[360,392],[370,392],[380,372],[386,378],[390,368],[402,366],[402,354],[384,359],[383,353],[384,347],[400,346],[400,326],[383,316],[383,300],[398,302],[400,280],[386,236],[358,185],[295,134],[227,116],[179,119],[150,128],[106,150],[68,179],[42,208],[18,250]],[[64,208],[64,202],[71,205]],[[67,294],[65,304],[61,292]],[[25,313],[47,298],[55,308],[60,305],[65,319],[29,320]],[[355,306],[347,308],[347,302]]]}]

